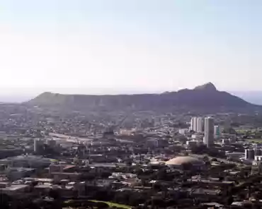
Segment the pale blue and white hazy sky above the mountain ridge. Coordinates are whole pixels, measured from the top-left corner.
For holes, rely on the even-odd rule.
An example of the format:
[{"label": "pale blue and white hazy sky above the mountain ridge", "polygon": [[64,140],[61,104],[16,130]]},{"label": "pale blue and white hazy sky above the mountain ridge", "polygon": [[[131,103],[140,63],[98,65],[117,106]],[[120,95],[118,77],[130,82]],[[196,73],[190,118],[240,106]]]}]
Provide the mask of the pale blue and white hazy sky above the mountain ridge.
[{"label": "pale blue and white hazy sky above the mountain ridge", "polygon": [[262,90],[261,0],[0,0],[0,94]]}]

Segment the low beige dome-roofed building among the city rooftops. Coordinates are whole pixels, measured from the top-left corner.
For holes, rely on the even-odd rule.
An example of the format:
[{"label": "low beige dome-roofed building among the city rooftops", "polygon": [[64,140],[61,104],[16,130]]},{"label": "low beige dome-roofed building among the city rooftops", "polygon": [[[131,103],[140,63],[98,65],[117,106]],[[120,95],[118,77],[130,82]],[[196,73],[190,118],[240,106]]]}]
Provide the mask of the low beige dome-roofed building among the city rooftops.
[{"label": "low beige dome-roofed building among the city rooftops", "polygon": [[166,165],[173,168],[190,168],[190,169],[205,169],[205,162],[195,157],[180,156],[174,157],[169,161],[166,161]]}]

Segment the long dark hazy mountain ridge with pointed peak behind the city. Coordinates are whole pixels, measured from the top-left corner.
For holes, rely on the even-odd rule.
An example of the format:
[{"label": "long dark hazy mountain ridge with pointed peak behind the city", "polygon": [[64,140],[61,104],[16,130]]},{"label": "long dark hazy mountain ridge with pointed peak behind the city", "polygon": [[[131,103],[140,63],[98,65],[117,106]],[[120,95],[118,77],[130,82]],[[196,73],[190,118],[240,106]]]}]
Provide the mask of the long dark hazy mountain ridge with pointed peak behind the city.
[{"label": "long dark hazy mountain ridge with pointed peak behind the city", "polygon": [[222,92],[212,83],[193,90],[140,95],[61,95],[44,92],[26,104],[72,110],[184,110],[208,112],[250,112],[262,110],[239,97]]}]

